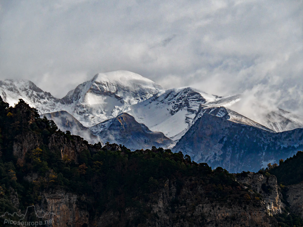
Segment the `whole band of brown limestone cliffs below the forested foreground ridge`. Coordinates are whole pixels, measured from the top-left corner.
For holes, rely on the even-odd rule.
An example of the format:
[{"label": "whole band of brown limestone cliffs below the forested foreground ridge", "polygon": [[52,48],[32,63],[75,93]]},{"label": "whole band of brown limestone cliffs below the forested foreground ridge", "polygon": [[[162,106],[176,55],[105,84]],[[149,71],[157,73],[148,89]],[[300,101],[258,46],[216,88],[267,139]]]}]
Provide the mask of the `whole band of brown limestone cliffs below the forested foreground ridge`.
[{"label": "whole band of brown limestone cliffs below the forested foreground ridge", "polygon": [[[274,177],[266,179],[263,175],[251,173],[241,181],[251,183],[253,189],[258,189],[265,183],[275,191]],[[143,215],[138,206],[131,206],[122,212],[108,210],[102,214],[95,213],[92,217],[88,209],[81,205],[81,201],[86,200],[85,196],[77,196],[63,190],[43,192],[43,202],[39,205],[39,210],[48,214],[47,219],[53,220],[54,227],[278,226],[271,215],[279,212],[278,207],[282,206],[275,197],[279,196],[277,191],[255,202],[247,200],[239,203],[233,199],[220,200],[209,197],[207,187],[208,185],[203,185],[203,182],[196,178],[185,179],[181,188],[176,180],[168,179],[163,186],[151,190],[145,199],[138,201],[150,208],[149,212]],[[253,195],[254,192],[251,192],[251,196]]]}]

